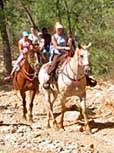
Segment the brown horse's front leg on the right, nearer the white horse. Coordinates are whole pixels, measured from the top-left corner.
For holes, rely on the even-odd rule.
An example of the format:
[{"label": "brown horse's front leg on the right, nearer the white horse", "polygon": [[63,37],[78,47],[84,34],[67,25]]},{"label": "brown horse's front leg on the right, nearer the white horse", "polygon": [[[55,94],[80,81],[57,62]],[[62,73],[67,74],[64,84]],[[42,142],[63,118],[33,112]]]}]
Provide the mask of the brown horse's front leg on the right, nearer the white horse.
[{"label": "brown horse's front leg on the right, nearer the white horse", "polygon": [[33,115],[32,115],[32,110],[33,110],[33,101],[35,97],[36,91],[30,91],[30,104],[29,104],[29,121],[33,122]]}]

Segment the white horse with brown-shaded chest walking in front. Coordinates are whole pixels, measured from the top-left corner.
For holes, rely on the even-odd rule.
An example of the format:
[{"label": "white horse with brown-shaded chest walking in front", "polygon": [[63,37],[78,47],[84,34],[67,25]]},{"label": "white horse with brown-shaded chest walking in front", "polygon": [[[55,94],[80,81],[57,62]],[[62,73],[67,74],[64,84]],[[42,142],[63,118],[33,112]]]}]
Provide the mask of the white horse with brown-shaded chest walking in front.
[{"label": "white horse with brown-shaded chest walking in front", "polygon": [[[78,96],[80,98],[80,113],[84,117],[85,130],[90,131],[87,109],[86,109],[86,75],[85,71],[90,69],[89,67],[89,53],[87,49],[91,46],[83,46],[77,48],[75,54],[72,58],[67,59],[61,68],[59,68],[59,74],[57,82],[55,83],[56,89],[53,90],[53,86],[50,86],[49,89],[44,89],[44,94],[47,103],[49,104],[49,112],[47,114],[47,127],[50,127],[50,117],[53,119],[53,124],[59,128],[64,128],[64,112],[65,112],[65,102],[67,97]],[[39,72],[39,82],[41,87],[49,79],[47,74],[47,68],[49,64],[45,64],[41,67]],[[54,96],[52,100],[51,95]],[[61,102],[61,116],[60,122],[57,123],[53,115],[53,103],[56,98],[59,98]]]}]

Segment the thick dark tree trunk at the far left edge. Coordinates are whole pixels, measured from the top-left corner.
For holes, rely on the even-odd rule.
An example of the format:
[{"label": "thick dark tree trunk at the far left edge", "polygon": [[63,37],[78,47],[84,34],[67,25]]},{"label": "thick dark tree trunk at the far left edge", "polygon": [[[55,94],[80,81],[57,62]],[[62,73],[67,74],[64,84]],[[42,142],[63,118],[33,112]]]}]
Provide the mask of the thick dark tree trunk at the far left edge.
[{"label": "thick dark tree trunk at the far left edge", "polygon": [[11,49],[10,49],[7,26],[5,21],[3,0],[0,0],[0,32],[1,32],[2,44],[3,44],[4,66],[5,66],[6,72],[10,73],[12,70]]}]

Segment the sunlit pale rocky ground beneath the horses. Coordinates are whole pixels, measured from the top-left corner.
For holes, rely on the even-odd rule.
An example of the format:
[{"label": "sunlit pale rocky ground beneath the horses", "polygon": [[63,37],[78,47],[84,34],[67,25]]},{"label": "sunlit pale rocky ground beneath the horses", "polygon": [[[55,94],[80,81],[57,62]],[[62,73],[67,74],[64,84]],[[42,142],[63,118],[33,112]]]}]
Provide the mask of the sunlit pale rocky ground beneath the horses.
[{"label": "sunlit pale rocky ground beneath the horses", "polygon": [[[77,103],[72,98],[67,106]],[[113,81],[87,87],[87,105],[92,134],[80,131],[75,109],[65,113],[65,131],[46,129],[42,93],[35,97],[34,123],[30,124],[22,119],[21,99],[11,83],[0,80],[0,153],[114,153]]]}]

